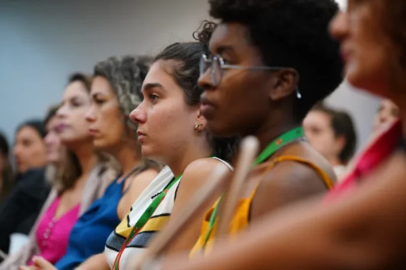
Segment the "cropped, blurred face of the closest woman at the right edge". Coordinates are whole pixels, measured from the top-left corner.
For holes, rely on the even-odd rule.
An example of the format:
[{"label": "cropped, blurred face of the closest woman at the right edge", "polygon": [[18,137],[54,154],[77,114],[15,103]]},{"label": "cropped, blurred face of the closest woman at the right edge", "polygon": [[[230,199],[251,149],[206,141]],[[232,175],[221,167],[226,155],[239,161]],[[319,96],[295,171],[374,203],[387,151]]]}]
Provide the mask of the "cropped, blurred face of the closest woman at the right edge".
[{"label": "cropped, blurred face of the closest woman at the right edge", "polygon": [[[388,98],[393,95],[389,90],[393,83],[404,81],[398,68],[404,48],[396,46],[392,34],[387,32],[388,27],[384,28],[388,20],[394,20],[389,12],[396,9],[396,5],[401,7],[401,1],[349,0],[347,12],[337,14],[330,24],[330,33],[341,41],[349,83]],[[403,92],[404,88],[398,91]]]}]

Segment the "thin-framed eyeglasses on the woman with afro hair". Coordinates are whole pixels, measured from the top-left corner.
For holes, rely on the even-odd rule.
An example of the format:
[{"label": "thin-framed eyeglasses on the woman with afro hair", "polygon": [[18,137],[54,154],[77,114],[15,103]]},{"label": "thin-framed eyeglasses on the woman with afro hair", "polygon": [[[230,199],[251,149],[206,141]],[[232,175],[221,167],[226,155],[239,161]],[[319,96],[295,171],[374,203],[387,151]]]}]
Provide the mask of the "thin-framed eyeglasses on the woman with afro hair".
[{"label": "thin-framed eyeglasses on the woman with afro hair", "polygon": [[213,56],[212,58],[207,57],[207,55],[202,54],[200,58],[200,76],[206,73],[210,68],[210,77],[213,86],[218,86],[223,78],[223,69],[249,69],[253,71],[257,70],[271,70],[279,71],[284,67],[271,67],[271,66],[240,66],[240,65],[229,65],[224,63],[224,59],[219,56]]}]

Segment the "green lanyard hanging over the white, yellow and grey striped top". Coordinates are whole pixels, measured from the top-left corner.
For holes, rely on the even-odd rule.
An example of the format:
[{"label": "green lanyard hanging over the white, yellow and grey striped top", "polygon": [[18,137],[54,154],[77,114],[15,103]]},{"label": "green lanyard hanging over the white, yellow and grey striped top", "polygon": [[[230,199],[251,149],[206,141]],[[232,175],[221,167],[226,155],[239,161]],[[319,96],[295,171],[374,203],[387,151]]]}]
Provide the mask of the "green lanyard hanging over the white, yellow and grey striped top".
[{"label": "green lanyard hanging over the white, yellow and grey striped top", "polygon": [[151,218],[152,214],[155,212],[156,208],[158,208],[159,204],[162,202],[163,198],[165,198],[166,193],[171,187],[181,179],[182,174],[178,177],[172,178],[171,182],[159,193],[157,197],[152,201],[152,203],[148,206],[145,212],[141,215],[140,219],[137,223],[132,227],[131,232],[129,233],[128,237],[125,239],[124,244],[122,245],[120,251],[116,256],[116,260],[114,261],[112,270],[119,269],[119,263],[121,255],[123,254],[124,249],[127,247],[128,243],[140,232],[140,230],[144,227],[147,221]]}]

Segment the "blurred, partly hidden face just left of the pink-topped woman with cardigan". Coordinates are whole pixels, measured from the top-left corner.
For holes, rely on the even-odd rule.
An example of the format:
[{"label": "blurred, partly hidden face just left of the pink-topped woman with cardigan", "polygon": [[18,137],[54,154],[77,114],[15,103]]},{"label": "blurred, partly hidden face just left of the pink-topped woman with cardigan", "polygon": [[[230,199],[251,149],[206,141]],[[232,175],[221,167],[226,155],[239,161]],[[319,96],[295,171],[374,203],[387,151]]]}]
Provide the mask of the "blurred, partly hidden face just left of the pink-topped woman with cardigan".
[{"label": "blurred, partly hidden face just left of the pink-topped woman with cardigan", "polygon": [[66,148],[61,144],[59,138],[58,125],[58,118],[52,117],[46,126],[47,135],[45,136],[44,141],[47,147],[47,164],[59,164],[66,154]]}]

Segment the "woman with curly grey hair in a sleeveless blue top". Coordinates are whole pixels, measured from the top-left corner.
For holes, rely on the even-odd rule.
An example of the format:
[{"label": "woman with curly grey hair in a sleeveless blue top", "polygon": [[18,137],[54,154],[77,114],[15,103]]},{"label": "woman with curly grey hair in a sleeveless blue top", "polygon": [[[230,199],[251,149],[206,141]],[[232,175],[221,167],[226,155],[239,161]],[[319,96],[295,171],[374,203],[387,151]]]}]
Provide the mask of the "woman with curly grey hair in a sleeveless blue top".
[{"label": "woman with curly grey hair in a sleeveless blue top", "polygon": [[112,230],[158,174],[158,164],[141,156],[136,126],[128,119],[142,101],[141,86],[148,64],[146,57],[126,56],[111,57],[94,67],[91,105],[81,121],[87,121],[86,134],[94,147],[112,155],[121,173],[76,222],[66,254],[55,264],[59,270],[74,269],[102,253]]}]

